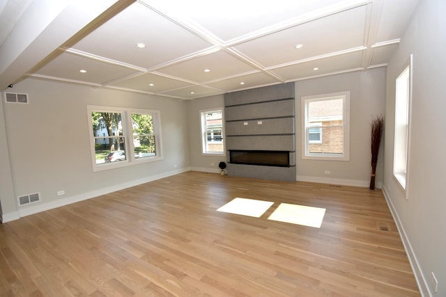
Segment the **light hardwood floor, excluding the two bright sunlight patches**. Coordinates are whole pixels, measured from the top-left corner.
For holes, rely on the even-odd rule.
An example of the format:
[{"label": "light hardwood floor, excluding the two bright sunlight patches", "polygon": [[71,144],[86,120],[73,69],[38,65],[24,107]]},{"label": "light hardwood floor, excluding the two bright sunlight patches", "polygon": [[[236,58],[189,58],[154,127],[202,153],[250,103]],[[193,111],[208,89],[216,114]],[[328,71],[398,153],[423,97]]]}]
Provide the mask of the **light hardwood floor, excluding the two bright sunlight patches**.
[{"label": "light hardwood floor, excluding the two bright sunlight patches", "polygon": [[[237,197],[275,204],[216,211]],[[268,220],[280,202],[321,228]],[[0,296],[420,296],[381,191],[204,172],[0,225],[0,268]]]}]

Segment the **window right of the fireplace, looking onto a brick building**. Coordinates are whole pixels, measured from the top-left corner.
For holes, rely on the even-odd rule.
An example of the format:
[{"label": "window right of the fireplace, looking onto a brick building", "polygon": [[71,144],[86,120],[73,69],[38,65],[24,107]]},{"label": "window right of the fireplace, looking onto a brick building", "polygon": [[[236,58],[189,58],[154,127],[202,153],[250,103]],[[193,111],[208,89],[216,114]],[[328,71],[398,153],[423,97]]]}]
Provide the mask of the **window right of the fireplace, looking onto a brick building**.
[{"label": "window right of the fireplace, looking onto a brick building", "polygon": [[302,97],[302,159],[348,161],[350,92]]}]

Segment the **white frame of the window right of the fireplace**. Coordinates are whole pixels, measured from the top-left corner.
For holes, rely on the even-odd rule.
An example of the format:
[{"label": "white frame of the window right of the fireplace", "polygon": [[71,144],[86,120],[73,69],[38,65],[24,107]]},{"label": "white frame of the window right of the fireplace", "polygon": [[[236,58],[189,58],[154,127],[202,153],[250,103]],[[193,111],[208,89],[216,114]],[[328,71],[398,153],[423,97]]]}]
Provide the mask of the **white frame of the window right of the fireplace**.
[{"label": "white frame of the window right of the fireplace", "polygon": [[[342,154],[311,153],[307,131],[311,124],[308,117],[309,102],[342,99],[342,118],[344,122],[344,149]],[[350,91],[328,93],[320,95],[302,96],[300,98],[301,118],[302,118],[302,159],[350,161]],[[322,140],[322,138],[321,138]]]}]

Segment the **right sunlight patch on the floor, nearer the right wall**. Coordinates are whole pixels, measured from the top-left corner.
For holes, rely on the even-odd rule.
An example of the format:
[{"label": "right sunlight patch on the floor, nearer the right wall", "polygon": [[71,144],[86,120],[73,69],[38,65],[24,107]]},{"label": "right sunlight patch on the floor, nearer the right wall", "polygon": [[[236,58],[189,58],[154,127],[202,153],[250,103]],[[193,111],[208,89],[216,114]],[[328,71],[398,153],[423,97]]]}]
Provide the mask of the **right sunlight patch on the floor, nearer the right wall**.
[{"label": "right sunlight patch on the floor, nearer the right wall", "polygon": [[320,228],[323,216],[325,216],[324,208],[281,203],[268,220]]}]

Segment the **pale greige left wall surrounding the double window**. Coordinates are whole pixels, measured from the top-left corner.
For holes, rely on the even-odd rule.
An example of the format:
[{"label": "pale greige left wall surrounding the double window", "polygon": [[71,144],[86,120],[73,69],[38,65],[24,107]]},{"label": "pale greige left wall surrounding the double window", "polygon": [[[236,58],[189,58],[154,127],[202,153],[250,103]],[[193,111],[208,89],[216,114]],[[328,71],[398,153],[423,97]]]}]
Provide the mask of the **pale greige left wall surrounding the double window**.
[{"label": "pale greige left wall surrounding the double window", "polygon": [[[42,199],[19,207],[17,216],[189,170],[185,102],[36,79],[9,91],[29,95],[29,104],[3,104],[15,195],[40,193]],[[93,172],[88,104],[159,110],[164,160]],[[61,190],[65,195],[57,196]],[[15,199],[2,196],[1,204]],[[13,218],[10,209],[3,207],[3,215]]]}]

